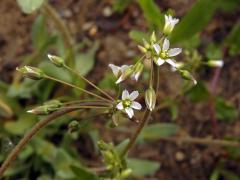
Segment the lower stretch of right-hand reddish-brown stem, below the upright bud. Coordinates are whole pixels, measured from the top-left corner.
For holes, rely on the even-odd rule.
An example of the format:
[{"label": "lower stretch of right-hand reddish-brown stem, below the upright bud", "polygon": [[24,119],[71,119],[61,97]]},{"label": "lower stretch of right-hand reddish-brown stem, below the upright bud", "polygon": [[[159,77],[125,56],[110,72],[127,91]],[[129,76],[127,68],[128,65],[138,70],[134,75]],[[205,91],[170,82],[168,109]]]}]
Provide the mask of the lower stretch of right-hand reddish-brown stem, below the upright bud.
[{"label": "lower stretch of right-hand reddish-brown stem, below the upright bud", "polygon": [[134,134],[132,135],[129,143],[127,144],[126,148],[122,151],[122,153],[120,154],[121,157],[124,157],[127,152],[133,147],[138,135],[140,134],[140,132],[142,131],[143,127],[147,124],[149,117],[151,116],[151,111],[149,111],[148,109],[145,110],[144,112],[144,116],[138,126],[138,128],[136,129],[136,131],[134,132]]}]

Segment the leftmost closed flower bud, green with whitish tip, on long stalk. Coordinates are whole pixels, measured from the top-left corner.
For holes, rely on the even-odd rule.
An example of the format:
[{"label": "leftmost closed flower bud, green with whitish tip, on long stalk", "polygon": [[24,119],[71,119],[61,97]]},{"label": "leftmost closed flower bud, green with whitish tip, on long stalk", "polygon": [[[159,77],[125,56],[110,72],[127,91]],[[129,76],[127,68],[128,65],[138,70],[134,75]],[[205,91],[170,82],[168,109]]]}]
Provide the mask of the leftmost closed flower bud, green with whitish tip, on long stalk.
[{"label": "leftmost closed flower bud, green with whitish tip, on long stalk", "polygon": [[24,66],[24,67],[17,67],[17,71],[23,73],[23,76],[33,79],[33,80],[39,80],[44,77],[44,72],[41,69],[31,67],[31,66]]}]

